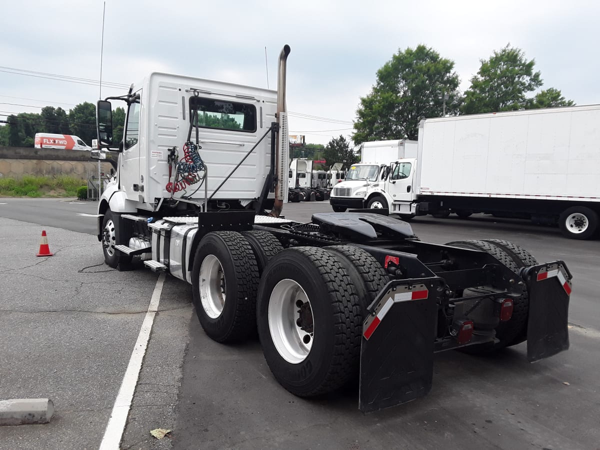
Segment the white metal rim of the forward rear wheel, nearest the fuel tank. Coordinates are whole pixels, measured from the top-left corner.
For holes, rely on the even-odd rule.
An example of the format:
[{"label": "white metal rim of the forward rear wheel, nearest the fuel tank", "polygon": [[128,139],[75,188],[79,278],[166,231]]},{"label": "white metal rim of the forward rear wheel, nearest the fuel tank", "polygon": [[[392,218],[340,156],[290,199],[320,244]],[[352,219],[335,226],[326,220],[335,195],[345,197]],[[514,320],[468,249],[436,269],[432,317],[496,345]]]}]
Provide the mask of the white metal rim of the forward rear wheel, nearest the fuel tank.
[{"label": "white metal rim of the forward rear wheel, nearest the fuel tank", "polygon": [[217,319],[225,307],[226,287],[223,266],[218,258],[209,254],[200,266],[200,302],[211,319]]}]

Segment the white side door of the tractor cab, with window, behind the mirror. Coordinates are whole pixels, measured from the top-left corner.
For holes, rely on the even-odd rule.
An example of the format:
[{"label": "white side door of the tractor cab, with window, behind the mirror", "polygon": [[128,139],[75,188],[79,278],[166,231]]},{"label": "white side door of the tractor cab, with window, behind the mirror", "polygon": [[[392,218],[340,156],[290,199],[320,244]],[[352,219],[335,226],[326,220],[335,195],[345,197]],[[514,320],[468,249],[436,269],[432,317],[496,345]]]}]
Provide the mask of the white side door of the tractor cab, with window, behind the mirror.
[{"label": "white side door of the tractor cab, with window, behind the mirror", "polygon": [[[142,91],[137,91],[142,94]],[[131,103],[127,110],[121,155],[121,185],[127,199],[137,202],[143,190],[140,181],[140,101]],[[141,186],[141,187],[140,187]]]}]

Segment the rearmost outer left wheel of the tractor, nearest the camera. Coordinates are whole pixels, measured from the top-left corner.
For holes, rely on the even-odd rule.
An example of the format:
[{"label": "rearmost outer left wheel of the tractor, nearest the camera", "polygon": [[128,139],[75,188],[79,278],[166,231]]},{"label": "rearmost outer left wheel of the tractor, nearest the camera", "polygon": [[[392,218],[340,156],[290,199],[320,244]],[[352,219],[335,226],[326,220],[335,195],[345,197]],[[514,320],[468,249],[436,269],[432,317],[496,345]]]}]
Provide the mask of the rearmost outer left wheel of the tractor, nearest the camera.
[{"label": "rearmost outer left wheel of the tractor, nearest the camera", "polygon": [[257,322],[266,362],[292,394],[325,394],[356,376],[361,307],[337,254],[318,247],[280,251],[260,280]]}]

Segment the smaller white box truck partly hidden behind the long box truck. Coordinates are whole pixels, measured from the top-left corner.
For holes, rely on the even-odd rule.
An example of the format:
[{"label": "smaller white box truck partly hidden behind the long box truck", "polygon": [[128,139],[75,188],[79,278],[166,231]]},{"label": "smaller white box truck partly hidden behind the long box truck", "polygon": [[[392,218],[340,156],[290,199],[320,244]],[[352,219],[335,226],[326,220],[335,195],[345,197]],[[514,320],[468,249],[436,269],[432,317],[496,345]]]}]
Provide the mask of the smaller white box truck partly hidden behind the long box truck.
[{"label": "smaller white box truck partly hidden behind the long box truck", "polygon": [[362,143],[361,162],[350,166],[344,181],[336,184],[331,191],[329,203],[333,210],[344,212],[348,208],[363,208],[367,188],[381,181],[382,167],[389,166],[398,158],[416,158],[416,153],[417,142],[414,140],[377,140]]}]

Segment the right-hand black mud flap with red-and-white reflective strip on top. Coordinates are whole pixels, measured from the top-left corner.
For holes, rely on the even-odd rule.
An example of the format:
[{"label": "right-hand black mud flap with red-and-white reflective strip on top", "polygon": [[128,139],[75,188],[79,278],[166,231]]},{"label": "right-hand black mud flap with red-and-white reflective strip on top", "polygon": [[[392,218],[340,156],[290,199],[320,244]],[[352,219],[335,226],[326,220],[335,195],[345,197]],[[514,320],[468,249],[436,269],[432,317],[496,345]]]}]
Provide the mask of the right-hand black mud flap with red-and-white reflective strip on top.
[{"label": "right-hand black mud flap with red-and-white reflective strip on top", "polygon": [[525,269],[529,292],[527,359],[539,361],[569,348],[571,274],[557,261]]}]

